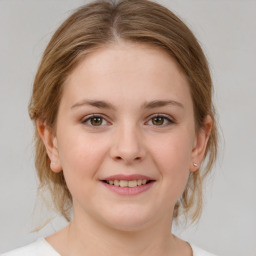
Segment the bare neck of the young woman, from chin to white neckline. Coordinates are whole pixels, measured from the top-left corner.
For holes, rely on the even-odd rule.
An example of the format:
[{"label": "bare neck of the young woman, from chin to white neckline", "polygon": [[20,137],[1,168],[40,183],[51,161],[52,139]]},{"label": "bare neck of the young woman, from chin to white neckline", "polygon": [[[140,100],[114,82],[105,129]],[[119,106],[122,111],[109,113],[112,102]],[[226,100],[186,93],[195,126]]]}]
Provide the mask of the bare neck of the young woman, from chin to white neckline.
[{"label": "bare neck of the young woman, from chin to white neckline", "polygon": [[169,214],[127,231],[74,212],[73,221],[47,241],[62,256],[191,256],[190,246],[171,234],[171,226]]}]

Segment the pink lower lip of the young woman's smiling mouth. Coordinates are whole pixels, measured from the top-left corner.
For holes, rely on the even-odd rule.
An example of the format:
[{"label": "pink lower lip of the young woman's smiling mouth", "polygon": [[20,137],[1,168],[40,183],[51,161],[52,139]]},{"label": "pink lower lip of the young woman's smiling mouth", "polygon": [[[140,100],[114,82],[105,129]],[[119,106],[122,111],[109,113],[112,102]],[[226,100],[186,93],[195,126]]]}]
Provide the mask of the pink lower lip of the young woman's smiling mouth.
[{"label": "pink lower lip of the young woman's smiling mouth", "polygon": [[137,187],[133,187],[133,188],[129,188],[129,187],[118,187],[118,186],[114,186],[114,185],[110,185],[108,183],[102,182],[102,184],[107,187],[109,190],[119,194],[119,195],[123,195],[123,196],[134,196],[134,195],[138,195],[141,194],[147,190],[149,190],[152,185],[154,184],[153,181],[149,182],[148,184],[145,185],[141,185],[141,186],[137,186]]}]

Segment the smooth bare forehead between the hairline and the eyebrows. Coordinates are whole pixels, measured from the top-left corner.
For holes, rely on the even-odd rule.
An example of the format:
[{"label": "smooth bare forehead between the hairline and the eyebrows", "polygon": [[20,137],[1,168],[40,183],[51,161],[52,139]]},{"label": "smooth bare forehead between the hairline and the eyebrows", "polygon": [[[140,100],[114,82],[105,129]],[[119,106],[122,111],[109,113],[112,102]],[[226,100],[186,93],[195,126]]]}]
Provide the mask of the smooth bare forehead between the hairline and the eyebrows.
[{"label": "smooth bare forehead between the hairline and the eyebrows", "polygon": [[[115,43],[88,54],[64,84],[64,95],[150,101],[190,98],[187,79],[164,50],[147,44]],[[191,101],[191,99],[190,99]]]}]

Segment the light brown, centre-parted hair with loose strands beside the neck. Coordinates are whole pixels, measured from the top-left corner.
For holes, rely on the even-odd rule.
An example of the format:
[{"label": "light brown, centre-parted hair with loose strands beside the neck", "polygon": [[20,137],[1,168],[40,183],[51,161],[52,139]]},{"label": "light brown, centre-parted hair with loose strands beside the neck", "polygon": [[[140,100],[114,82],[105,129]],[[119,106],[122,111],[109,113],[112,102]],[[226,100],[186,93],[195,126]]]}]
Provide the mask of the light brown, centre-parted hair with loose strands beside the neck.
[{"label": "light brown, centre-parted hair with loose strands beside the neck", "polygon": [[[67,76],[86,54],[117,40],[164,49],[177,61],[189,81],[196,128],[203,127],[207,115],[213,120],[205,166],[191,173],[174,210],[174,217],[182,209],[194,221],[201,213],[203,179],[211,170],[217,154],[212,81],[207,60],[193,33],[165,7],[147,0],[121,0],[96,1],[79,8],[58,28],[44,52],[34,81],[30,117],[54,127]],[[71,194],[63,172],[51,171],[46,149],[36,129],[35,146],[39,188],[50,190],[55,209],[69,220]]]}]

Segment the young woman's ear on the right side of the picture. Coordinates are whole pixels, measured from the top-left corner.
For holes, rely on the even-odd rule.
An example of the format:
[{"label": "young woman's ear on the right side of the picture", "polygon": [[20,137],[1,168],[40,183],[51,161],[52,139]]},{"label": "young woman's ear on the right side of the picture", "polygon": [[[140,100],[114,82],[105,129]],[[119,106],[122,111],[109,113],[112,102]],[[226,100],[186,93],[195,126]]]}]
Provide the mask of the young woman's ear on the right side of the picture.
[{"label": "young woman's ear on the right side of the picture", "polygon": [[192,163],[190,172],[195,172],[199,169],[201,162],[204,158],[206,146],[211,134],[212,118],[207,115],[204,121],[204,126],[200,128],[197,133],[194,147],[192,149]]}]

